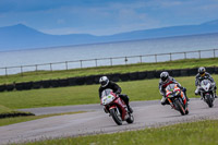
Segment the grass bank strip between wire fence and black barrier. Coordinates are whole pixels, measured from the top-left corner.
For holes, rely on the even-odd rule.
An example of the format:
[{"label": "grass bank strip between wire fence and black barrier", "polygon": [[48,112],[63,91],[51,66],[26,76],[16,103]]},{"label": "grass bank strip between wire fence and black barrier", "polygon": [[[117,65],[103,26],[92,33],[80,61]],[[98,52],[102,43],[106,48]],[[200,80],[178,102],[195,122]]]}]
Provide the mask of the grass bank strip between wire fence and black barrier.
[{"label": "grass bank strip between wire fence and black barrier", "polygon": [[15,75],[0,76],[0,84],[11,84],[13,82],[29,82],[29,81],[41,81],[52,78],[66,78],[75,76],[88,76],[97,74],[109,74],[109,73],[128,73],[128,72],[141,72],[141,71],[153,71],[153,70],[170,70],[170,69],[186,69],[197,67],[218,67],[218,58],[215,59],[187,59],[167,61],[158,63],[137,63],[128,65],[114,65],[114,67],[99,67],[88,69],[73,69],[68,71],[37,71],[27,72]]}]

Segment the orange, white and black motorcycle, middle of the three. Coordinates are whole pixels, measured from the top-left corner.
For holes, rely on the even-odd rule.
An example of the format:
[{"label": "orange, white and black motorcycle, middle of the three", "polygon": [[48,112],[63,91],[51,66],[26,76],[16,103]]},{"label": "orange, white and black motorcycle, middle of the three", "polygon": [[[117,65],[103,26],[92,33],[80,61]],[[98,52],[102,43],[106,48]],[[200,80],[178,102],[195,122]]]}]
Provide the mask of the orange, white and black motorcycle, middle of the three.
[{"label": "orange, white and black motorcycle, middle of the three", "polygon": [[186,97],[177,84],[168,85],[166,93],[167,99],[173,109],[178,110],[182,116],[189,113]]}]

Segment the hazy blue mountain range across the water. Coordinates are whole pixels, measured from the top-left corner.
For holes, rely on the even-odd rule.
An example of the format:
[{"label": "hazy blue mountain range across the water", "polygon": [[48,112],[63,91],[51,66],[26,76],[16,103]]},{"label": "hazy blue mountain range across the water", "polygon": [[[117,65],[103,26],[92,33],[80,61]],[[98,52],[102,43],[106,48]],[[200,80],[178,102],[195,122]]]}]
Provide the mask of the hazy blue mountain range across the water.
[{"label": "hazy blue mountain range across the water", "polygon": [[0,51],[164,38],[210,33],[218,33],[218,20],[199,25],[143,29],[120,33],[110,36],[94,36],[88,34],[49,35],[40,33],[23,24],[17,24],[13,26],[0,27]]}]

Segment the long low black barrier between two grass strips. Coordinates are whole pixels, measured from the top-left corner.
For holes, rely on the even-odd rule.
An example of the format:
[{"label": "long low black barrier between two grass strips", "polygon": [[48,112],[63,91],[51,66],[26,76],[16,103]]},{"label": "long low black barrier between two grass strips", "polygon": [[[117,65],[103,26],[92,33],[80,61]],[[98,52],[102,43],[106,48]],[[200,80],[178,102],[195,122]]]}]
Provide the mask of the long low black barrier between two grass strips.
[{"label": "long low black barrier between two grass strips", "polygon": [[[195,76],[197,74],[197,69],[198,68],[181,69],[181,70],[161,70],[161,71],[158,70],[158,71],[132,72],[123,74],[114,73],[114,74],[104,74],[104,75],[107,75],[113,82],[126,82],[126,81],[146,80],[146,78],[147,80],[159,78],[159,75],[162,71],[169,72],[169,74],[173,77]],[[218,67],[209,67],[206,68],[206,70],[210,74],[218,74]],[[64,86],[76,86],[76,85],[92,85],[92,84],[98,84],[100,76],[102,75],[4,84],[0,85],[0,92],[28,90],[28,89],[64,87]]]}]

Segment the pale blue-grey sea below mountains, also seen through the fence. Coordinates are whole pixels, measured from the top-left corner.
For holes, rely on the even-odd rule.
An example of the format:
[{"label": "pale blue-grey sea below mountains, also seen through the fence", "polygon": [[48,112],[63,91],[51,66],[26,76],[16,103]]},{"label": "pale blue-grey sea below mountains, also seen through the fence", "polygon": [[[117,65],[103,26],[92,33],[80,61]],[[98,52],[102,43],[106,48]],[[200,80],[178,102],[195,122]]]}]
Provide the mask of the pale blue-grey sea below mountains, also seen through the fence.
[{"label": "pale blue-grey sea below mountains, also seen through the fence", "polygon": [[[129,56],[144,56],[155,53],[169,53],[169,52],[181,52],[181,51],[195,51],[206,49],[218,49],[218,34],[210,35],[198,35],[198,36],[186,36],[186,37],[173,37],[173,38],[159,38],[159,39],[147,39],[147,40],[134,40],[134,41],[122,41],[122,43],[110,43],[110,44],[98,44],[98,45],[83,45],[83,46],[70,46],[70,47],[57,47],[57,48],[45,48],[34,50],[21,50],[21,51],[7,51],[0,52],[0,68],[5,67],[17,67],[17,65],[32,65],[41,63],[52,62],[64,62],[64,61],[76,61],[87,59],[99,59],[99,58],[114,58],[114,57],[129,57]],[[207,58],[213,57],[213,52],[201,53],[201,57]],[[216,51],[218,57],[218,51]],[[187,58],[197,58],[198,53],[189,53]],[[174,55],[172,59],[182,59],[184,55]],[[169,56],[160,56],[157,61],[169,60]],[[124,59],[113,59],[112,64],[124,64],[135,62],[154,62],[154,57],[143,58],[129,58],[128,61]],[[111,60],[99,60],[97,61],[83,61],[68,63],[68,69],[71,68],[85,68],[94,65],[110,65]],[[64,63],[53,64],[52,70],[61,70],[66,68]],[[22,68],[22,71],[33,70],[49,70],[50,65],[37,65]],[[21,69],[8,69],[7,73],[17,73]],[[4,74],[5,70],[0,69],[0,74]]]}]

